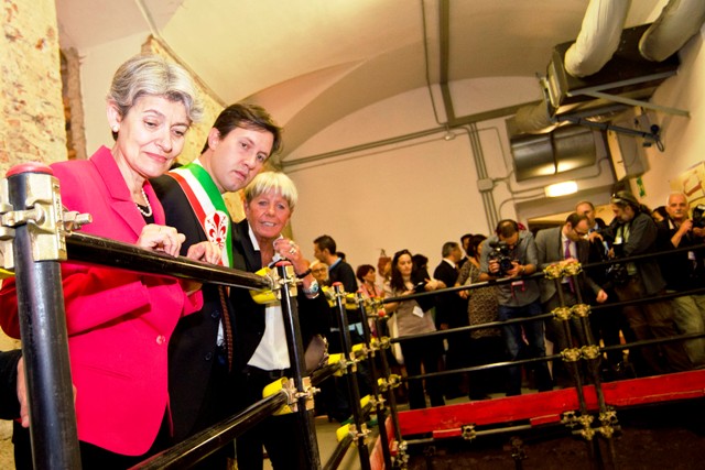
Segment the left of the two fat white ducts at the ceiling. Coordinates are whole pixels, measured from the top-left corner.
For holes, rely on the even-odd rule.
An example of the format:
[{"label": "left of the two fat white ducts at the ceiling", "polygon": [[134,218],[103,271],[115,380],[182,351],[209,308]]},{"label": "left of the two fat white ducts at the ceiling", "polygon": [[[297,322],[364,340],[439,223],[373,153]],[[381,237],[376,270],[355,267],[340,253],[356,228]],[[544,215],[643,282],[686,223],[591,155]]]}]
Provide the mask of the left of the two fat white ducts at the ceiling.
[{"label": "left of the two fat white ducts at the ceiling", "polygon": [[574,77],[599,72],[619,46],[631,0],[590,0],[575,44],[565,53],[565,69]]}]

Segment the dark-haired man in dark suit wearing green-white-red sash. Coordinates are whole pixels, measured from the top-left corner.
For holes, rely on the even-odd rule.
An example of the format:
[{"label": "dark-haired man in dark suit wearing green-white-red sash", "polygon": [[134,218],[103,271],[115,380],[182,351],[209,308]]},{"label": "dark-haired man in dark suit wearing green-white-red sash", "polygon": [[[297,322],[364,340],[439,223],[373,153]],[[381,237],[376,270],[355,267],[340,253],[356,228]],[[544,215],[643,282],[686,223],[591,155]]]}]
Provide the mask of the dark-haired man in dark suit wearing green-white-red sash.
[{"label": "dark-haired man in dark suit wearing green-white-red sash", "polygon": [[[223,199],[262,170],[281,143],[281,130],[262,108],[231,105],[217,118],[200,156],[152,179],[166,225],[186,236],[182,254],[194,243],[210,241],[221,250],[221,264],[232,266],[231,221]],[[235,409],[229,389],[234,363],[232,311],[225,287],[203,286],[199,314],[183,317],[169,343],[169,393],[174,441],[227,417]],[[224,468],[226,452],[204,468]]]}]

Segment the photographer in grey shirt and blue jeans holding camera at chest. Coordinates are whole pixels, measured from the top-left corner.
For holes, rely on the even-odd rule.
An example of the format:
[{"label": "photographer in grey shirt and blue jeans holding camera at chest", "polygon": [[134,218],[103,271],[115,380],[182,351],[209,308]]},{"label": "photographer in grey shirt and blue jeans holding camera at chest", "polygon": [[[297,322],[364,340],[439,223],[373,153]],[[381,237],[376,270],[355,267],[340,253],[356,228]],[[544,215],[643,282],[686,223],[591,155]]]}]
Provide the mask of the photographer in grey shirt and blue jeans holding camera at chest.
[{"label": "photographer in grey shirt and blue jeans holding camera at chest", "polygon": [[[513,281],[497,286],[498,317],[500,321],[512,318],[533,317],[543,313],[540,303],[539,283],[524,278],[536,272],[536,244],[531,232],[520,230],[514,220],[500,220],[496,234],[482,243],[480,258],[480,281],[510,277]],[[523,332],[529,345],[523,340]],[[502,327],[502,337],[510,360],[541,358],[545,356],[543,321]],[[535,367],[536,387],[540,392],[552,390],[553,383],[545,362]],[[508,368],[507,396],[521,394],[521,369]]]}]

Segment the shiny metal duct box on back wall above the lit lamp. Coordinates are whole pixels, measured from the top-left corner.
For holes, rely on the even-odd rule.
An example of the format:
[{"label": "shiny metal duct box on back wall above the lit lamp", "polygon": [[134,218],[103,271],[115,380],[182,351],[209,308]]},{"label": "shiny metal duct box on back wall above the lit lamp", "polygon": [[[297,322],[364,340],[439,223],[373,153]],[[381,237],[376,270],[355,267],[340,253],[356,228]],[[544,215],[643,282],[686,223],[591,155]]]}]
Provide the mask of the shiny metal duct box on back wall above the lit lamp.
[{"label": "shiny metal duct box on back wall above the lit lamp", "polygon": [[579,125],[517,135],[510,145],[518,182],[593,166],[597,161],[595,133]]}]

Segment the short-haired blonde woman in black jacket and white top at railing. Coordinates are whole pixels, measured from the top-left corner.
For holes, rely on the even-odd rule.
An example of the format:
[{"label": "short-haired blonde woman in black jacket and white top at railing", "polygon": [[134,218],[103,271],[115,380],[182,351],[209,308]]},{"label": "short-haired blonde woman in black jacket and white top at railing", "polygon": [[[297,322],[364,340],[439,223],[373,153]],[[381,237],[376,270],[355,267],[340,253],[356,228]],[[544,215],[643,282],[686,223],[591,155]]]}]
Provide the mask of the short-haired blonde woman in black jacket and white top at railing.
[{"label": "short-haired blonde woman in black jacket and white top at railing", "polygon": [[[296,303],[303,343],[316,335],[327,335],[328,304],[318,295],[318,284],[311,274],[308,261],[293,240],[282,237],[296,204],[293,182],[283,173],[260,173],[245,188],[246,220],[232,226],[234,267],[257,272],[279,260],[288,260],[296,277],[303,280]],[[262,389],[290,374],[289,348],[279,302],[257,304],[250,293],[230,289],[235,311],[237,390],[242,407],[262,400]],[[305,468],[305,446],[296,415],[264,419],[236,440],[238,468],[262,468],[262,445],[274,469]]]}]

